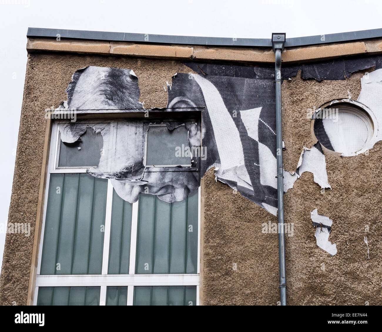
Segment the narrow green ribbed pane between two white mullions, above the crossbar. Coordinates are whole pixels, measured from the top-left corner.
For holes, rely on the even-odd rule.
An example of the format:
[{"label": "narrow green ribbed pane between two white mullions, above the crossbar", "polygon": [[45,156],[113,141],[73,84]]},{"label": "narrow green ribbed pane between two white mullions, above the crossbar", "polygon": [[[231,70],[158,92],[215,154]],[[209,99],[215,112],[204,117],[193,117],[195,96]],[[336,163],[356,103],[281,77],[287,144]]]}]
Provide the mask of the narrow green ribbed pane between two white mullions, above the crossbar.
[{"label": "narrow green ribbed pane between two white mullions, above the crossbar", "polygon": [[108,274],[129,274],[132,213],[133,204],[120,198],[113,189]]}]

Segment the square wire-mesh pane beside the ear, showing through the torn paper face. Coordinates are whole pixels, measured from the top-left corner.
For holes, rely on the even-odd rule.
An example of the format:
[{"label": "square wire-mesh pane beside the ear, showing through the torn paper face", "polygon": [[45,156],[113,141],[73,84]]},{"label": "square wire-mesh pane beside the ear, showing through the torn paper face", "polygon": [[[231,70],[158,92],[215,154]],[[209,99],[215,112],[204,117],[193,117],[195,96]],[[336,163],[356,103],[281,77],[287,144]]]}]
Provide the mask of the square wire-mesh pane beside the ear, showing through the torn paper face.
[{"label": "square wire-mesh pane beside the ear, showing through the torn paper face", "polygon": [[168,130],[167,125],[151,124],[145,138],[146,167],[191,167],[188,130],[181,125]]}]

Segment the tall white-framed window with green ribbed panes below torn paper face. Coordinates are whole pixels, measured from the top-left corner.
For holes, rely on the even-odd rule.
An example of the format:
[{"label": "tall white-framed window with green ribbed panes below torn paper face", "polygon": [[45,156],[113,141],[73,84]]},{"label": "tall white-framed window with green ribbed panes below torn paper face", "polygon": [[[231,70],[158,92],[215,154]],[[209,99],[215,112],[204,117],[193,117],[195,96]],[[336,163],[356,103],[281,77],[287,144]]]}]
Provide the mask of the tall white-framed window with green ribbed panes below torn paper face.
[{"label": "tall white-framed window with green ribbed panes below torn paper face", "polygon": [[87,127],[64,144],[53,124],[34,304],[196,305],[199,191],[171,204],[149,194],[124,201],[110,180],[86,173],[98,135]]}]

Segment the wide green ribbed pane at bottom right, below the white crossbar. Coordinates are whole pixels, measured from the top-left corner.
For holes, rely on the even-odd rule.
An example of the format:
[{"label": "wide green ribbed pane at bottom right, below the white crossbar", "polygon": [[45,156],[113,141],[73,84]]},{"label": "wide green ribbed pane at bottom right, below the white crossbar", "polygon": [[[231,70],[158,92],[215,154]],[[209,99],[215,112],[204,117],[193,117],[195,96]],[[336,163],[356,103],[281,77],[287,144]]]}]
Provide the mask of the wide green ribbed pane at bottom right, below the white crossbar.
[{"label": "wide green ribbed pane at bottom right, below the white crossbar", "polygon": [[134,306],[196,306],[196,286],[136,286]]}]

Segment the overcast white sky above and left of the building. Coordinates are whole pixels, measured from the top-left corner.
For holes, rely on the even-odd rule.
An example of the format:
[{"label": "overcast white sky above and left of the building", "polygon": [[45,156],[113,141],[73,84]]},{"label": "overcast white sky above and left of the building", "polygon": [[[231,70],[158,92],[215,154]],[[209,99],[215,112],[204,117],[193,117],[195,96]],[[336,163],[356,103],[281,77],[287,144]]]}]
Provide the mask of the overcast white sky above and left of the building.
[{"label": "overcast white sky above and left of the building", "polygon": [[[0,0],[0,223],[8,220],[28,27],[238,38],[286,32],[300,37],[382,28],[381,12],[380,0]],[[4,241],[2,233],[0,264]]]}]

